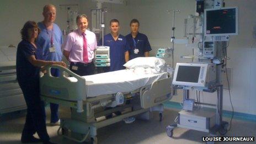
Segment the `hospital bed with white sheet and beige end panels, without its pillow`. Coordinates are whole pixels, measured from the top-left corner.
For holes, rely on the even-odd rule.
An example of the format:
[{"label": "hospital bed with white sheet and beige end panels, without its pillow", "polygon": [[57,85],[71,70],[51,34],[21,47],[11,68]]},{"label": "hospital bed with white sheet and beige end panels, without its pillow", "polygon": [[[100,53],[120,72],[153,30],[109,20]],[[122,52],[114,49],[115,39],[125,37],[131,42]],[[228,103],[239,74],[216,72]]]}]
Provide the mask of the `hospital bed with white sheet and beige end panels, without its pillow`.
[{"label": "hospital bed with white sheet and beige end panels, without its pillow", "polygon": [[[51,68],[58,68],[61,76],[51,76]],[[76,142],[88,137],[97,142],[100,127],[139,114],[149,119],[153,110],[159,111],[161,120],[162,103],[172,98],[172,78],[167,72],[120,70],[81,77],[61,66],[45,69],[47,72],[40,76],[40,97],[71,108],[71,118],[61,118],[58,134]],[[117,111],[119,114],[114,115]],[[106,115],[113,116],[106,119]]]}]

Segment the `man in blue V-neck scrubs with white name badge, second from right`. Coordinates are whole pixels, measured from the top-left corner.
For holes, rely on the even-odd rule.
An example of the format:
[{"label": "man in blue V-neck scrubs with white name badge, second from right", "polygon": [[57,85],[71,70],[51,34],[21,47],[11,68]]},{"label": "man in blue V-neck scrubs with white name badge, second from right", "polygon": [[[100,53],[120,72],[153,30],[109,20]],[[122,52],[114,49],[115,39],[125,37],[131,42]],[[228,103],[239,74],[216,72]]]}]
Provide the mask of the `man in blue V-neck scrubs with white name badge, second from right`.
[{"label": "man in blue V-neck scrubs with white name badge, second from right", "polygon": [[[104,35],[104,46],[110,47],[110,70],[118,71],[125,69],[125,62],[129,61],[129,44],[125,36],[119,34],[119,21],[110,20],[110,34]],[[102,45],[102,40],[98,42]]]}]

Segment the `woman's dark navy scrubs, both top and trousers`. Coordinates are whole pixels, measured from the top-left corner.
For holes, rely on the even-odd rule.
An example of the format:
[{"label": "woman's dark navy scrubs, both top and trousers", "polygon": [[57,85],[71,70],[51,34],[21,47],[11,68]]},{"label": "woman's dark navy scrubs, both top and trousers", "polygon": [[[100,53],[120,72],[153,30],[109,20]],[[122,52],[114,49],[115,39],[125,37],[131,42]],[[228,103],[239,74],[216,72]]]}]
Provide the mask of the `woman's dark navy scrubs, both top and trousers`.
[{"label": "woman's dark navy scrubs, both top and trousers", "polygon": [[[50,140],[46,130],[44,103],[39,96],[39,67],[33,66],[28,57],[35,55],[36,48],[29,41],[19,42],[16,57],[17,79],[27,105],[26,122],[22,135],[33,136],[35,132],[43,142]],[[36,57],[36,55],[35,55]]]}]

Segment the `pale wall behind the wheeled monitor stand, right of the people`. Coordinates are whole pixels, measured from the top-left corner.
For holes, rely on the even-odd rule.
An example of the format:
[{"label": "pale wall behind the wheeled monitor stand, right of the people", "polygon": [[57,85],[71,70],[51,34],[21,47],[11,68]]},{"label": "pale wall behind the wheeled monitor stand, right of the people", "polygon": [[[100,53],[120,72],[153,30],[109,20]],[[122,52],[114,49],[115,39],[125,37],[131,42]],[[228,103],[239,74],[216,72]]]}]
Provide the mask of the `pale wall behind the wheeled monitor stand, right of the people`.
[{"label": "pale wall behind the wheeled monitor stand, right of the people", "polygon": [[[253,38],[253,28],[256,26],[256,1],[225,0],[226,7],[238,7],[239,34],[231,36],[230,45],[227,48],[227,67],[232,70],[231,97],[234,111],[247,114],[256,114],[256,38]],[[150,40],[153,50],[151,56],[156,54],[159,47],[171,46],[170,34],[172,29],[172,14],[166,10],[180,9],[181,13],[175,16],[175,38],[183,39],[184,19],[189,14],[195,13],[195,1],[191,0],[161,0],[154,1],[129,1],[131,18],[140,20],[141,33],[145,33]],[[256,27],[255,27],[256,29]],[[256,30],[255,30],[256,31]],[[256,32],[255,32],[256,33]],[[175,44],[174,62],[190,62],[180,58],[182,55],[192,55],[192,49],[184,44]],[[180,90],[173,102],[182,102],[183,92]],[[191,97],[193,97],[191,93]],[[201,101],[215,103],[216,93],[203,93]],[[223,109],[232,110],[228,96],[228,90],[223,92]]]}]

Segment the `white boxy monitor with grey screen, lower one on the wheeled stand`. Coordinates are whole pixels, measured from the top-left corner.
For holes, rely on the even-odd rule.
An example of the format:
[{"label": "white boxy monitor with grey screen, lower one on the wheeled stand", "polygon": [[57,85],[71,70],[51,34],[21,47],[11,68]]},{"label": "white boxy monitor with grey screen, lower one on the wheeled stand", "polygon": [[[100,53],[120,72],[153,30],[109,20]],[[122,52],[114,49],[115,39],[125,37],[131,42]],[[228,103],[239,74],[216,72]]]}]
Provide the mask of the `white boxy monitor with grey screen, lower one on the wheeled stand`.
[{"label": "white boxy monitor with grey screen, lower one on the wheeled stand", "polygon": [[210,63],[177,63],[173,84],[206,88],[216,81],[216,66]]}]

